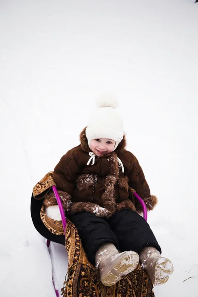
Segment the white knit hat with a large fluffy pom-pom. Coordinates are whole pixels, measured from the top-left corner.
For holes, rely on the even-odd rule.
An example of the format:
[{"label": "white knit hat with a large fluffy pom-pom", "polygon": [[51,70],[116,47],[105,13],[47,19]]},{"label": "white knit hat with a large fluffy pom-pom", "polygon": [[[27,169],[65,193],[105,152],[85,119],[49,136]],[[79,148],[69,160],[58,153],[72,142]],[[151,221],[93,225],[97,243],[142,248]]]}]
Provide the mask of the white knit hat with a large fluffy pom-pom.
[{"label": "white knit hat with a large fluffy pom-pom", "polygon": [[116,142],[114,150],[124,136],[123,122],[115,108],[118,106],[117,99],[110,95],[103,95],[97,100],[97,108],[88,120],[86,137],[91,148],[91,141],[97,138],[108,138]]}]

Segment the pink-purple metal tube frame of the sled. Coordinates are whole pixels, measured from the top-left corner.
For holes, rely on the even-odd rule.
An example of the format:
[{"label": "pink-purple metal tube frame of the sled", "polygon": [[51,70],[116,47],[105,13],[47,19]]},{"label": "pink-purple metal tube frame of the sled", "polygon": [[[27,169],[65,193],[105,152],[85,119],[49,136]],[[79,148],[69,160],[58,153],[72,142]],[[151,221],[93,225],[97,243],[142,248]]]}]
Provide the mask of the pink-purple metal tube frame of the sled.
[{"label": "pink-purple metal tube frame of the sled", "polygon": [[[65,217],[65,212],[64,212],[64,209],[63,209],[63,206],[62,206],[62,202],[60,200],[60,196],[58,194],[58,191],[56,189],[55,186],[52,187],[52,190],[53,190],[53,193],[55,195],[55,198],[57,200],[57,203],[58,203],[58,207],[59,207],[59,210],[60,210],[60,216],[61,216],[61,220],[62,220],[62,226],[63,226],[63,230],[64,230],[64,235],[65,235],[65,229],[66,229],[66,217]],[[144,216],[144,219],[147,221],[147,207],[146,207],[146,204],[145,202],[143,201],[143,199],[137,194],[137,193],[133,193],[133,195],[135,196],[135,198],[137,198],[139,200],[139,202],[141,203],[142,205],[142,208],[143,208],[143,216]],[[49,248],[49,245],[50,245],[50,240],[48,239],[47,240],[47,247]],[[49,254],[50,254],[50,250],[49,250]],[[55,290],[55,294],[56,294],[56,297],[59,297],[59,292],[58,290],[55,288],[55,284],[54,284],[54,281],[53,281],[53,270],[52,270],[52,283],[53,283],[53,287],[54,287],[54,290]]]}]

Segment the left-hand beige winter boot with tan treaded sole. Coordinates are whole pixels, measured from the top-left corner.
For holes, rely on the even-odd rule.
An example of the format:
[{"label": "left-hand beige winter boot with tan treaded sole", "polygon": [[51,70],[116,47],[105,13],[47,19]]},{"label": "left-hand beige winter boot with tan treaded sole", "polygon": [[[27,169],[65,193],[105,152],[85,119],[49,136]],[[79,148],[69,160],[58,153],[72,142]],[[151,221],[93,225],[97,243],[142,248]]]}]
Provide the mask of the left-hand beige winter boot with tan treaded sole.
[{"label": "left-hand beige winter boot with tan treaded sole", "polygon": [[117,283],[123,275],[133,271],[139,263],[139,255],[135,251],[119,253],[111,243],[105,243],[96,253],[96,268],[99,268],[100,280],[105,286]]}]

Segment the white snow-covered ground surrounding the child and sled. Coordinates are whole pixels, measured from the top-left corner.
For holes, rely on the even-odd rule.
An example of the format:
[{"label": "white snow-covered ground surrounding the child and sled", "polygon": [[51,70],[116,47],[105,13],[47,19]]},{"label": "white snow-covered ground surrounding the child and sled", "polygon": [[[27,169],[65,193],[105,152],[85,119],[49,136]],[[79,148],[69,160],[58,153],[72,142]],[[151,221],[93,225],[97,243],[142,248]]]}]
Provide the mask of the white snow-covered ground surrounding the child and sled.
[{"label": "white snow-covered ground surrounding the child and sled", "polygon": [[[104,91],[159,200],[148,223],[175,272],[155,295],[198,296],[198,3],[1,0],[1,297],[55,297],[32,188],[79,144]],[[66,252],[52,248],[61,286]]]}]

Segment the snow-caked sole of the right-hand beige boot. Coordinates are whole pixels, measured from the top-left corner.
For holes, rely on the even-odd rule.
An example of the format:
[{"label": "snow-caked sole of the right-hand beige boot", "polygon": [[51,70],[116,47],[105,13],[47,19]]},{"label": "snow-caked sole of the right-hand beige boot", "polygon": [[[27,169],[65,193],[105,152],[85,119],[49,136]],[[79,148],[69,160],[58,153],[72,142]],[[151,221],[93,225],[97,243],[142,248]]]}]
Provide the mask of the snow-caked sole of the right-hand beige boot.
[{"label": "snow-caked sole of the right-hand beige boot", "polygon": [[160,286],[165,284],[173,271],[174,267],[169,259],[163,257],[159,258],[155,264],[155,273],[152,282],[153,285]]}]

